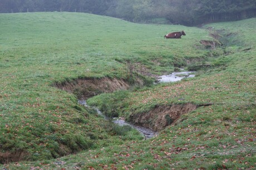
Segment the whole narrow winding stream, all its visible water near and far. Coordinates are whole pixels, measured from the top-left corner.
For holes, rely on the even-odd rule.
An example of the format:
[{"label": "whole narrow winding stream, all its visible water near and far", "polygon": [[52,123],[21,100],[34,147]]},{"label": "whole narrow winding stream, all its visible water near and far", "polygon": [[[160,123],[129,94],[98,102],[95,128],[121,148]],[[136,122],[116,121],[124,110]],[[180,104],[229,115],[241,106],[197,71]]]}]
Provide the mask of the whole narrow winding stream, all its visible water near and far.
[{"label": "whole narrow winding stream, all its visible water near and far", "polygon": [[[193,72],[192,71],[174,72],[169,75],[160,76],[159,77],[160,79],[158,79],[157,81],[159,83],[168,83],[168,82],[180,81],[181,79],[184,79],[184,78],[194,78],[195,75],[193,75],[191,73],[193,73]],[[97,107],[92,107],[92,106],[87,105],[86,100],[78,100],[78,103],[85,107],[89,107],[89,108],[96,110],[97,114],[103,116],[104,119],[106,119],[106,120],[111,119],[110,117],[107,117],[104,114],[102,114],[102,112]],[[142,135],[145,136],[145,139],[148,139],[148,138],[151,138],[151,137],[154,137],[155,135],[157,135],[157,131],[151,130],[151,128],[133,125],[129,122],[126,122],[122,118],[114,117],[112,119],[112,121],[119,126],[128,125],[128,126],[131,126],[132,128],[135,128],[137,131],[139,131]]]}]

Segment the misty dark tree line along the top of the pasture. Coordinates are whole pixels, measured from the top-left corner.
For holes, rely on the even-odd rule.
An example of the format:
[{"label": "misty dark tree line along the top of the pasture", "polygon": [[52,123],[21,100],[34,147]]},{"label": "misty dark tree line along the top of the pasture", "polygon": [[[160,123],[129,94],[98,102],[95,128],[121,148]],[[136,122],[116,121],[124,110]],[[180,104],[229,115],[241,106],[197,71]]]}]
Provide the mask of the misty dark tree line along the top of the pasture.
[{"label": "misty dark tree line along the top of the pasture", "polygon": [[0,13],[85,12],[152,22],[199,25],[256,17],[255,0],[0,0]]}]

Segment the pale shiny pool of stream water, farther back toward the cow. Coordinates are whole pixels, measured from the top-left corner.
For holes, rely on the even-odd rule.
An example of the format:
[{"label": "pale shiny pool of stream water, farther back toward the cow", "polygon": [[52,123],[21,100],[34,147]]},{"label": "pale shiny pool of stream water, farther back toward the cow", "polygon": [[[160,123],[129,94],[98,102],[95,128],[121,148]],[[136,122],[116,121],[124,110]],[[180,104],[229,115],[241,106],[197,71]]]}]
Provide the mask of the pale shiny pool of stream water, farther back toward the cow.
[{"label": "pale shiny pool of stream water, farther back toward the cow", "polygon": [[184,78],[194,78],[195,75],[193,71],[183,71],[183,72],[174,72],[168,75],[162,75],[157,79],[159,83],[168,83],[168,82],[175,82],[180,81]]}]

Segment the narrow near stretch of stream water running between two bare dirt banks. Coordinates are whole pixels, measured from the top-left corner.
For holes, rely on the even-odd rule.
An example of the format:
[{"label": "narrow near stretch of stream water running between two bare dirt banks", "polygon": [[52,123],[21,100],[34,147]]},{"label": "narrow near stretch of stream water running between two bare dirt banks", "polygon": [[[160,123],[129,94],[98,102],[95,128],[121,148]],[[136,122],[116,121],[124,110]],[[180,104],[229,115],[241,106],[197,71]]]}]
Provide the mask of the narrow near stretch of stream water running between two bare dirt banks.
[{"label": "narrow near stretch of stream water running between two bare dirt banks", "polygon": [[[105,116],[104,114],[102,114],[102,112],[101,112],[97,107],[92,107],[92,106],[87,105],[86,100],[78,100],[78,103],[79,103],[80,105],[85,106],[85,107],[89,107],[89,108],[92,108],[92,109],[96,110],[96,111],[97,111],[97,114],[103,116],[104,119],[106,119],[106,120],[111,120],[110,117],[107,117],[107,116]],[[157,132],[154,131],[154,130],[151,130],[151,128],[146,128],[146,127],[143,127],[143,126],[136,126],[136,125],[133,125],[133,124],[131,124],[131,123],[126,122],[126,121],[125,121],[124,119],[122,119],[122,118],[120,119],[120,118],[114,117],[114,118],[112,119],[112,121],[113,121],[114,123],[116,123],[117,125],[119,125],[119,126],[128,125],[128,126],[131,126],[132,128],[135,128],[135,129],[136,129],[137,131],[139,131],[142,135],[144,135],[146,139],[151,138],[151,137],[154,137],[155,135],[157,135]]]}]

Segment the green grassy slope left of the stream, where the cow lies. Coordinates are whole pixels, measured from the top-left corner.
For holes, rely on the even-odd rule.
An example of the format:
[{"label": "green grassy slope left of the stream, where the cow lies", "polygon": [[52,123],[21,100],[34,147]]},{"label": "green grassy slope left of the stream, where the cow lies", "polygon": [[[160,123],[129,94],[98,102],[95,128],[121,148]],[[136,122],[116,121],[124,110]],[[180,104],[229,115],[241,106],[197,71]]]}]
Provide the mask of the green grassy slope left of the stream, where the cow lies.
[{"label": "green grassy slope left of the stream, where the cow lies", "polygon": [[[52,84],[85,77],[129,79],[128,61],[141,62],[153,73],[171,71],[181,56],[204,55],[202,49],[190,52],[191,44],[200,45],[196,35],[208,38],[203,29],[193,35],[197,28],[85,13],[0,14],[0,22],[2,163],[14,161],[8,158],[13,154],[50,159],[118,143],[119,137],[112,140],[102,121],[79,106],[73,94]],[[183,49],[170,53],[180,43],[163,35],[183,29],[192,37],[179,39]]]}]

